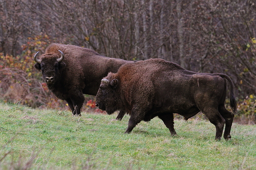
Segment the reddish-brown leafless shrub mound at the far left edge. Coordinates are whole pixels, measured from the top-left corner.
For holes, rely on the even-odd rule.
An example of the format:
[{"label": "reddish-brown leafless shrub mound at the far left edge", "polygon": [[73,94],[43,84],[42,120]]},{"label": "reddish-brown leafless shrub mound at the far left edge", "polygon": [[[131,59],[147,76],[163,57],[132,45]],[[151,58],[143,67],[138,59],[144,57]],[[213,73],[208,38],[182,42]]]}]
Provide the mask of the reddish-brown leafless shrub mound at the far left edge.
[{"label": "reddish-brown leafless shrub mound at the far left edge", "polygon": [[49,96],[51,94],[43,88],[42,82],[24,71],[14,68],[0,70],[2,100],[37,107],[46,104]]}]

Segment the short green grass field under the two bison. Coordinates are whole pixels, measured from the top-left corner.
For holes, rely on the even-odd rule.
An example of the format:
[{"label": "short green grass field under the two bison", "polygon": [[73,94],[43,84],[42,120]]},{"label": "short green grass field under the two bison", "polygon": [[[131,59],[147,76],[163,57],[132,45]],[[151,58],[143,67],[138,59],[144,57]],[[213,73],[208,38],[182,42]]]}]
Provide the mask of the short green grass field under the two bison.
[{"label": "short green grass field under the two bison", "polygon": [[116,116],[0,103],[0,170],[256,170],[256,125],[217,142],[209,121],[175,120],[171,137],[158,118],[124,134]]}]

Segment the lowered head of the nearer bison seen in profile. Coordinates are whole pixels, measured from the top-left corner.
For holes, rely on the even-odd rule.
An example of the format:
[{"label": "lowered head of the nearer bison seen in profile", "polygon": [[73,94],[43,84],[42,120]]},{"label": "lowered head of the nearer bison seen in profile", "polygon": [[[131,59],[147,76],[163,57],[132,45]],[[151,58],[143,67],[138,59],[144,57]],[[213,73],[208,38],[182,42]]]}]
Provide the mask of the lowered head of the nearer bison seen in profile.
[{"label": "lowered head of the nearer bison seen in profile", "polygon": [[112,114],[120,110],[121,99],[118,95],[118,79],[109,80],[103,78],[96,95],[96,106],[100,110],[105,110],[107,114]]}]

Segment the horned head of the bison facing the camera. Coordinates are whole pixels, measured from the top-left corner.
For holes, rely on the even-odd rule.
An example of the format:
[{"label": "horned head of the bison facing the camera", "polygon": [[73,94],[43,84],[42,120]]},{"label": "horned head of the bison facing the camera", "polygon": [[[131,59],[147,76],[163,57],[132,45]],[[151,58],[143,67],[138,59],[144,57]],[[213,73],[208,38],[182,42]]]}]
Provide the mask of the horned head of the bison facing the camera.
[{"label": "horned head of the bison facing the camera", "polygon": [[34,68],[41,70],[48,85],[53,84],[58,79],[62,68],[65,66],[64,53],[61,50],[59,51],[61,57],[59,53],[46,53],[42,55],[41,59],[37,59],[36,55],[39,51],[34,55],[34,61],[36,62]]}]

